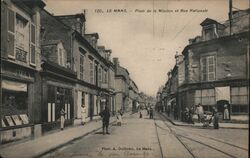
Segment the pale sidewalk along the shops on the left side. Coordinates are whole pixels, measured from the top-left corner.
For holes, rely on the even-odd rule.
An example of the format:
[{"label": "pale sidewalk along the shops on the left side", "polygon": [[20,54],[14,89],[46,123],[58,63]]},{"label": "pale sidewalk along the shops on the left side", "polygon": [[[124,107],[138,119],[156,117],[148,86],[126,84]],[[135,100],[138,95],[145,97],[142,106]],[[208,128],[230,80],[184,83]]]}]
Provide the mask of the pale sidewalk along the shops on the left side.
[{"label": "pale sidewalk along the shops on the left side", "polygon": [[[125,114],[127,117],[129,114]],[[116,121],[115,117],[110,118],[110,124]],[[39,157],[50,151],[56,150],[74,140],[80,139],[92,132],[102,128],[101,120],[92,121],[84,126],[73,126],[63,131],[51,133],[37,139],[17,143],[6,147],[0,146],[0,157],[3,158],[29,158]]]}]

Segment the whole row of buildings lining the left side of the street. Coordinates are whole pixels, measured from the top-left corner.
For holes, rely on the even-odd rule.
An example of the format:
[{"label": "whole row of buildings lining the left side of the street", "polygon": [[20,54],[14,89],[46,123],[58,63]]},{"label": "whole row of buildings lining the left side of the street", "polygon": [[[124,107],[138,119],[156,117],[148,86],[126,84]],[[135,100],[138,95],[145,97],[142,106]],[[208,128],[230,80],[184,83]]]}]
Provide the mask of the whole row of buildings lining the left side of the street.
[{"label": "whole row of buildings lining the left side of the street", "polygon": [[55,16],[41,0],[1,1],[0,142],[39,136],[99,118],[108,106],[135,110],[141,101],[136,83],[98,33],[86,33],[85,15]]}]

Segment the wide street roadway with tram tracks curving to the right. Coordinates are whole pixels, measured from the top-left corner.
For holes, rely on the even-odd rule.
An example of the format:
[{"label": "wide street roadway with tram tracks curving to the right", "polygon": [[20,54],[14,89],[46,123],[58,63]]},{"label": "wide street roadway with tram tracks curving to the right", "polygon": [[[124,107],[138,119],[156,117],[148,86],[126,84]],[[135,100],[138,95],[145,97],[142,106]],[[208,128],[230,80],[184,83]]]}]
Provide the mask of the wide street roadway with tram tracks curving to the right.
[{"label": "wide street roadway with tram tracks curving to the right", "polygon": [[143,118],[134,114],[111,126],[110,133],[99,130],[43,158],[248,157],[247,130],[174,126],[159,114],[149,119],[145,111]]}]

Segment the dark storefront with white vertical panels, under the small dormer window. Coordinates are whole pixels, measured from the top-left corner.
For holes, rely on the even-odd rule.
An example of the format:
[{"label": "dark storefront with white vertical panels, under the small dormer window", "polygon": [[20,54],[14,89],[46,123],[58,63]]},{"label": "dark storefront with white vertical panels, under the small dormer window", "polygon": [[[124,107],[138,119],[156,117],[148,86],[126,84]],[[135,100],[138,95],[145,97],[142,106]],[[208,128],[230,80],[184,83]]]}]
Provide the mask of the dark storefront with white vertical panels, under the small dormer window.
[{"label": "dark storefront with white vertical panels, under the small dormer window", "polygon": [[[42,65],[42,131],[58,129],[60,113],[65,113],[65,126],[72,125],[74,119],[73,91],[76,74],[66,68],[45,62]],[[64,74],[64,75],[61,75]]]}]

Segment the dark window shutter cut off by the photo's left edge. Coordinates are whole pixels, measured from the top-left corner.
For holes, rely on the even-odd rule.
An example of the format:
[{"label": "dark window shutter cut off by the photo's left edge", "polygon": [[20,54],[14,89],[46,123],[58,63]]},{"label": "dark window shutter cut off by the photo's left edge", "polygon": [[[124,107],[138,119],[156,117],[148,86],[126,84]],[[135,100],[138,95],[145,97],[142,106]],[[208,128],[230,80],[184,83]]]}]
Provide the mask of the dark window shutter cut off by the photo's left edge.
[{"label": "dark window shutter cut off by the photo's left edge", "polygon": [[1,2],[1,57],[7,58],[7,5]]}]

